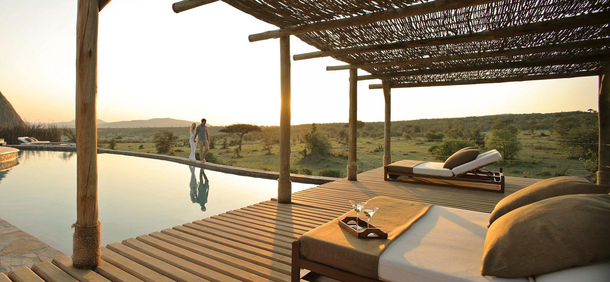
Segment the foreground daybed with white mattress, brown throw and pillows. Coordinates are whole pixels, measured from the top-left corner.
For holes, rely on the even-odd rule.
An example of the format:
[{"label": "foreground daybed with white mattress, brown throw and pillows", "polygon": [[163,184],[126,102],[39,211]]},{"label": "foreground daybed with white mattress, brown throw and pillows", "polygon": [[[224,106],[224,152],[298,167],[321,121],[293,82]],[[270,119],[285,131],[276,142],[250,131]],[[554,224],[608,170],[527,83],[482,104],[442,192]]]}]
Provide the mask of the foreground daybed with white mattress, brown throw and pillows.
[{"label": "foreground daybed with white mattress, brown throw and pillows", "polygon": [[[574,179],[568,180],[573,181]],[[375,197],[367,201],[369,203],[373,202],[374,205],[379,206],[379,211],[378,213],[375,213],[375,216],[378,216],[378,214],[381,215],[382,210],[388,210],[392,215],[385,219],[378,218],[382,219],[381,221],[375,221],[375,218],[373,218],[371,224],[374,222],[380,229],[386,229],[388,239],[355,238],[353,235],[346,232],[346,230],[342,230],[338,227],[336,222],[338,219],[323,224],[316,229],[310,230],[293,242],[292,282],[300,281],[301,275],[307,273],[307,271],[301,272],[301,269],[313,272],[305,275],[318,273],[343,282],[609,281],[610,254],[608,252],[608,239],[606,234],[610,228],[607,220],[602,220],[607,219],[606,217],[610,215],[610,195],[607,193],[608,189],[610,189],[610,185],[589,185],[588,187],[584,187],[580,191],[575,192],[583,193],[583,190],[588,190],[584,192],[594,194],[569,194],[572,192],[554,190],[552,188],[554,184],[556,184],[556,182],[549,181],[547,184],[542,183],[542,185],[538,185],[537,187],[533,185],[532,189],[517,194],[512,199],[507,199],[508,197],[505,198],[508,201],[498,204],[502,205],[504,208],[504,210],[500,212],[506,212],[507,209],[512,209],[512,211],[502,215],[500,219],[496,220],[501,221],[500,223],[495,223],[493,219],[490,219],[489,213],[409,202],[387,197]],[[551,194],[554,193],[553,195],[550,195],[551,198],[529,204],[529,208],[528,205],[520,208],[517,207],[525,204],[523,201],[529,201],[529,199],[534,199],[540,195],[549,193],[549,189],[552,190],[550,192]],[[603,190],[604,193],[598,194],[600,190]],[[566,193],[568,194],[565,195]],[[564,196],[557,196],[558,194],[564,194]],[[382,200],[386,201],[384,202],[387,204],[386,207],[381,207],[381,202],[376,201],[380,198],[384,198]],[[390,199],[393,202],[387,202],[387,199]],[[591,199],[594,199],[594,201],[601,199],[601,204],[589,205],[589,202],[586,202],[586,204],[583,204],[585,202],[581,202],[590,201]],[[589,232],[586,233],[585,236],[578,235],[577,239],[584,242],[584,244],[579,245],[579,242],[573,243],[572,241],[575,240],[570,237],[578,234],[579,230],[571,230],[571,227],[566,228],[566,225],[563,225],[563,227],[553,225],[553,222],[559,222],[559,225],[567,224],[568,226],[572,226],[572,222],[565,223],[565,221],[570,221],[570,219],[566,220],[566,218],[562,218],[562,215],[555,216],[556,213],[562,213],[557,211],[558,209],[562,209],[561,204],[565,202],[567,202],[567,205],[563,209],[565,210],[567,208],[568,210],[565,210],[563,214],[568,217],[571,214],[579,213],[579,210],[584,210],[586,212],[584,214],[581,213],[580,218],[578,218],[578,216],[573,218],[580,222],[574,224],[574,228],[580,229],[580,231],[588,230],[585,232]],[[409,208],[403,208],[402,206],[405,205],[422,208],[425,211],[423,212],[423,215],[417,215],[417,209],[414,210],[411,208],[411,210],[409,210]],[[551,208],[551,210],[549,210],[549,208]],[[527,214],[533,216],[531,221],[528,219],[528,216],[523,216],[523,211],[525,210],[527,212],[528,209],[533,211],[533,213]],[[545,209],[546,211],[544,211]],[[403,212],[403,210],[405,212]],[[539,212],[540,210],[542,210],[542,212]],[[538,214],[536,215],[536,213]],[[340,218],[353,215],[355,214],[351,211],[340,216]],[[401,215],[406,216],[401,218]],[[587,221],[586,219],[590,217],[594,217],[591,219],[592,222],[598,222],[597,226],[594,226],[596,224],[591,224],[591,222],[585,222]],[[388,222],[390,222],[388,221],[388,218],[392,220],[392,224],[388,224]],[[395,220],[392,218],[401,219]],[[585,220],[583,220],[583,218]],[[545,220],[547,222],[544,222]],[[409,223],[405,224],[403,221],[409,221]],[[495,225],[492,224],[492,227],[488,229],[487,225],[490,224],[490,221],[494,222]],[[524,227],[523,224],[511,225],[510,221],[521,221],[522,223],[529,221],[528,224],[539,225],[540,228],[526,228],[545,230],[546,232],[551,230],[551,234],[553,235],[531,236],[527,231],[524,232],[522,229]],[[397,230],[395,227],[398,225],[404,225],[400,227],[403,229],[403,233],[395,233],[398,235],[388,241],[392,235],[392,230]],[[384,228],[381,226],[384,226]],[[406,229],[404,229],[405,226]],[[503,230],[506,226],[512,226],[509,228],[514,229],[514,231]],[[495,229],[493,229],[494,227]],[[344,235],[342,235],[342,232]],[[515,234],[515,232],[517,233]],[[536,234],[535,232],[536,231],[534,231],[534,234]],[[514,238],[512,245],[505,245],[504,243],[506,243],[506,241],[503,241],[503,243],[499,245],[493,244],[493,240],[497,238],[504,240],[504,237],[506,236],[512,236],[512,238]],[[533,241],[544,242],[542,244],[539,244],[539,242],[534,243],[545,246],[544,249],[542,249],[544,255],[540,255],[540,250],[539,252],[534,250],[536,249],[536,245],[534,245],[534,247],[529,247],[527,244],[524,244],[525,241],[528,241],[528,239],[532,237],[535,238]],[[568,241],[565,241],[566,238]],[[529,244],[532,244],[532,240],[529,240]],[[369,242],[373,243],[368,244]],[[567,242],[567,244],[564,244],[565,242]],[[515,271],[515,269],[517,272],[531,271],[531,275],[481,275],[481,273],[489,271],[489,266],[492,265],[486,265],[487,259],[495,255],[490,255],[490,252],[495,252],[493,248],[502,246],[503,244],[504,249],[507,249],[508,252],[512,252],[514,249],[520,249],[517,250],[518,256],[515,258],[514,253],[507,254],[496,252],[495,254],[501,254],[500,260],[496,261],[499,261],[502,266],[500,267],[500,270],[496,269],[493,271],[502,272],[505,269],[510,269],[512,267],[512,271]],[[525,245],[525,247],[520,245]],[[370,256],[371,252],[367,251],[367,248],[370,250],[370,246],[373,246],[373,250],[378,252],[376,253],[377,256]],[[590,250],[583,251],[583,249],[581,249],[583,246]],[[519,255],[519,252],[523,252],[523,249],[525,249],[525,255]],[[362,255],[359,255],[359,253],[362,253]],[[567,260],[571,261],[567,264],[565,264],[566,253]],[[509,259],[511,256],[512,260]],[[371,260],[371,257],[373,260]],[[543,262],[540,266],[537,266],[536,263],[528,263],[527,266],[521,266],[524,261],[527,263],[528,260],[542,260]],[[557,266],[557,262],[560,261],[560,263],[562,263],[562,260],[564,263],[563,266]],[[515,263],[515,261],[517,263]],[[555,264],[551,267],[556,268],[544,272],[539,271],[540,269],[548,267],[548,264]],[[502,278],[500,276],[515,278]]]}]

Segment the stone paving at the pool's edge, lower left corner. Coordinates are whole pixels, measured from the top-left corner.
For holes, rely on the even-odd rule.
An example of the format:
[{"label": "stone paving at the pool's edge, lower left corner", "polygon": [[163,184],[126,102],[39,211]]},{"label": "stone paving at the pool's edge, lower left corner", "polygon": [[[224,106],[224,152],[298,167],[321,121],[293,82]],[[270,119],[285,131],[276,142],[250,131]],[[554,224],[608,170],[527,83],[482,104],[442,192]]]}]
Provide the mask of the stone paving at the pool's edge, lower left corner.
[{"label": "stone paving at the pool's edge, lower left corner", "polygon": [[9,273],[59,256],[65,254],[0,218],[0,272]]}]

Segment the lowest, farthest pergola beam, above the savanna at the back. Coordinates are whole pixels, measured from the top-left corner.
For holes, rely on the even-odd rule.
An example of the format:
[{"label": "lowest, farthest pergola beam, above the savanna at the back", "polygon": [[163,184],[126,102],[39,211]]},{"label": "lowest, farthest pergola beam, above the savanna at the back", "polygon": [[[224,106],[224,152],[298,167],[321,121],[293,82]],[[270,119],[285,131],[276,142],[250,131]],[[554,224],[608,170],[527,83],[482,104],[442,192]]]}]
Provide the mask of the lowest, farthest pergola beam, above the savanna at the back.
[{"label": "lowest, farthest pergola beam, above the savanna at the back", "polygon": [[[390,88],[412,88],[412,87],[428,87],[428,86],[502,83],[502,82],[512,82],[512,81],[548,80],[548,79],[572,78],[572,77],[590,77],[593,75],[600,75],[600,70],[583,70],[580,72],[567,72],[564,74],[538,74],[538,75],[522,75],[519,77],[481,78],[481,79],[475,79],[475,80],[449,80],[449,81],[431,81],[431,82],[414,82],[414,83],[392,83]],[[382,84],[369,84],[368,89],[382,89]]]}]

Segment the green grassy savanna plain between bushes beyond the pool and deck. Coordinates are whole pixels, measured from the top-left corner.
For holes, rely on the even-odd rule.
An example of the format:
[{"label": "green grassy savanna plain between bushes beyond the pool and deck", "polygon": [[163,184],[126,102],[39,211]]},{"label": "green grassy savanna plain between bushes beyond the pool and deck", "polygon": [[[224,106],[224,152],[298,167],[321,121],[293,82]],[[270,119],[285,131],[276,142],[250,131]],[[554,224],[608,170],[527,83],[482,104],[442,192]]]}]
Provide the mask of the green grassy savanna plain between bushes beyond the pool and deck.
[{"label": "green grassy savanna plain between bushes beyond the pool and deck", "polygon": [[[336,124],[339,125],[339,124]],[[318,125],[318,130],[325,128],[328,125]],[[295,126],[296,127],[296,126]],[[304,128],[310,125],[304,125]],[[344,127],[336,126],[342,129]],[[237,148],[236,137],[231,135],[219,135],[218,129],[212,131],[210,128],[210,136],[216,136],[216,146],[210,149],[210,152],[218,157],[221,163],[234,165],[237,167],[256,168],[260,170],[278,171],[279,150],[275,144],[271,148],[271,154],[263,149],[263,139],[251,140],[246,138],[240,151],[241,157],[235,155]],[[187,128],[116,128],[116,129],[99,129],[100,140],[117,138],[118,143],[116,150],[140,151],[148,153],[156,153],[154,143],[151,143],[154,132],[160,130],[170,130],[178,135],[177,145],[169,154],[175,156],[188,157],[190,147],[185,140],[188,137]],[[551,129],[552,130],[552,129]],[[489,168],[497,170],[498,167],[503,167],[504,173],[507,176],[533,177],[533,178],[548,178],[562,175],[588,175],[584,165],[580,160],[573,157],[573,153],[567,148],[555,144],[558,142],[556,136],[551,134],[551,130],[522,130],[517,134],[517,139],[522,145],[522,150],[517,155],[515,160],[503,160]],[[277,131],[277,127],[264,128],[261,134],[273,134]],[[293,128],[293,132],[295,128]],[[212,133],[214,132],[214,133]],[[298,132],[298,131],[297,131]],[[120,134],[120,135],[119,135]],[[484,131],[483,134],[490,136],[490,131]],[[227,139],[227,148],[221,148],[223,138]],[[253,138],[254,139],[254,138]],[[247,141],[246,141],[247,140]],[[321,170],[331,169],[339,170],[342,176],[345,176],[347,159],[347,146],[343,139],[330,138],[332,145],[332,153],[334,156],[308,156],[303,158],[299,153],[303,151],[306,144],[299,142],[298,137],[293,137],[291,145],[291,163],[293,170],[308,168],[314,175],[318,175]],[[232,142],[231,142],[232,141]],[[127,143],[123,143],[127,142]],[[232,145],[229,145],[231,143]],[[429,141],[423,137],[404,138],[392,137],[392,160],[414,159],[414,160],[434,160],[434,157],[428,153],[428,148],[438,141]],[[382,166],[383,155],[383,139],[379,137],[359,137],[357,143],[357,157],[359,170],[367,171],[373,168]],[[101,146],[107,146],[101,144]],[[490,150],[492,148],[487,148]],[[198,151],[198,150],[197,150]],[[529,162],[532,161],[532,162]],[[296,171],[295,171],[296,172]]]}]

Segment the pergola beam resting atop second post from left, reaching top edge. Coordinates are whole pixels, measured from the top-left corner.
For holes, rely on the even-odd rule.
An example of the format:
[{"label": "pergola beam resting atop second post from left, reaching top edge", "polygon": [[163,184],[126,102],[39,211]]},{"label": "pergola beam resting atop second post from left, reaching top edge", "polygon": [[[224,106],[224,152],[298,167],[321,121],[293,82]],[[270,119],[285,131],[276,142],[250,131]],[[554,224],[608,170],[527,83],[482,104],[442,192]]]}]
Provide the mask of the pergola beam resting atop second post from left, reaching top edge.
[{"label": "pergola beam resting atop second post from left, reaching top edge", "polygon": [[248,40],[250,42],[254,42],[307,32],[319,32],[322,30],[341,29],[343,27],[362,26],[363,24],[371,24],[378,21],[406,18],[407,16],[426,15],[429,13],[460,9],[499,1],[500,0],[436,0],[422,4],[409,5],[404,8],[388,9],[379,12],[366,13],[359,16],[351,16],[350,18],[334,19],[330,21],[303,24],[301,26],[285,27],[284,29],[270,30],[268,32],[250,35],[248,36]]}]

